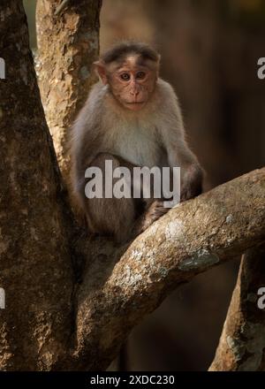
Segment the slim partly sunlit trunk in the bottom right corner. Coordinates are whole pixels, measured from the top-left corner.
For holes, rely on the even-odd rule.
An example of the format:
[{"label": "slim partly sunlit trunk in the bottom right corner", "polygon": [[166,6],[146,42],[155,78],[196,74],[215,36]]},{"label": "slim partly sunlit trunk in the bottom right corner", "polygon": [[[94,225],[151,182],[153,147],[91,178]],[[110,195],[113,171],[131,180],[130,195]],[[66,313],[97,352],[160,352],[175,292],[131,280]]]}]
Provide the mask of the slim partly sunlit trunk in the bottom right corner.
[{"label": "slim partly sunlit trunk in the bottom right corner", "polygon": [[243,256],[237,285],[211,371],[265,370],[265,310],[257,307],[265,286],[265,245]]}]

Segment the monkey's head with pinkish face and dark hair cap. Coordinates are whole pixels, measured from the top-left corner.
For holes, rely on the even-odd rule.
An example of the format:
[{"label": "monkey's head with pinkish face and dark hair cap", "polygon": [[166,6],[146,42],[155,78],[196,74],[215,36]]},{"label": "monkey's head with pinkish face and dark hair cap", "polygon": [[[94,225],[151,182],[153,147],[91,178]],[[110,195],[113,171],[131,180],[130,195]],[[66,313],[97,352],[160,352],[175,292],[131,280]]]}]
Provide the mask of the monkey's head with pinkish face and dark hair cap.
[{"label": "monkey's head with pinkish face and dark hair cap", "polygon": [[145,43],[122,42],[95,62],[103,84],[127,110],[138,111],[155,90],[160,56]]}]

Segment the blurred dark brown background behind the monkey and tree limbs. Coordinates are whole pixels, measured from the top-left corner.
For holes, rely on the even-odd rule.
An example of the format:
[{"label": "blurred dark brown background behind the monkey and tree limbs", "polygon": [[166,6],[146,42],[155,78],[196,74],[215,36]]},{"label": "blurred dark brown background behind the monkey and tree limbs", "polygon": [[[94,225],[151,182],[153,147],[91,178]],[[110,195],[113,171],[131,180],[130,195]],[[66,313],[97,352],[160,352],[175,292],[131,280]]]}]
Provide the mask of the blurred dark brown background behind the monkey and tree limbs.
[{"label": "blurred dark brown background behind the monkey and tree limbs", "polygon": [[[24,2],[32,48],[34,0]],[[205,190],[265,165],[263,0],[103,0],[101,48],[153,44],[180,99],[188,141],[207,172]],[[207,370],[239,259],[182,286],[129,340],[128,370]]]}]

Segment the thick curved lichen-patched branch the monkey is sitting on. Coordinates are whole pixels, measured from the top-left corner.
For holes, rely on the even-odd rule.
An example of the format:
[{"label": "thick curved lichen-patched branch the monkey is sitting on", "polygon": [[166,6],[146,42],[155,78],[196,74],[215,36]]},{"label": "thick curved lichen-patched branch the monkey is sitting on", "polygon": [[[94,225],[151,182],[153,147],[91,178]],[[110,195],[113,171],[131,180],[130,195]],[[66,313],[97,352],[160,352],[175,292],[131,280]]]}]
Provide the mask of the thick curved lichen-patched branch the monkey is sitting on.
[{"label": "thick curved lichen-patched branch the monkey is sitting on", "polygon": [[91,262],[77,294],[75,348],[64,366],[107,368],[133,326],[172,289],[265,240],[264,187],[265,168],[185,202],[123,256],[115,248],[109,256],[100,240],[90,241]]}]

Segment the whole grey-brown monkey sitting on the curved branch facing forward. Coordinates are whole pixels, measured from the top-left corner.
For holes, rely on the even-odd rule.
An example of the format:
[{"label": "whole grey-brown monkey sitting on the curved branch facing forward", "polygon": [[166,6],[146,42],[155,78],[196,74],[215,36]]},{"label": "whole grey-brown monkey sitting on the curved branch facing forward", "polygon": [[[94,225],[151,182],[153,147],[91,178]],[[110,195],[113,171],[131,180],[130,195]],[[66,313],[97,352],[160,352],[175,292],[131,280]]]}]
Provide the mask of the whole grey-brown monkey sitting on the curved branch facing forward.
[{"label": "whole grey-brown monkey sitting on the curved branch facing forward", "polygon": [[[121,42],[95,62],[99,82],[72,128],[73,194],[91,233],[118,242],[144,231],[169,209],[157,198],[87,198],[88,167],[180,167],[180,201],[201,193],[202,173],[189,149],[178,98],[159,78],[160,56],[147,44]],[[133,192],[133,187],[132,187]]]}]

